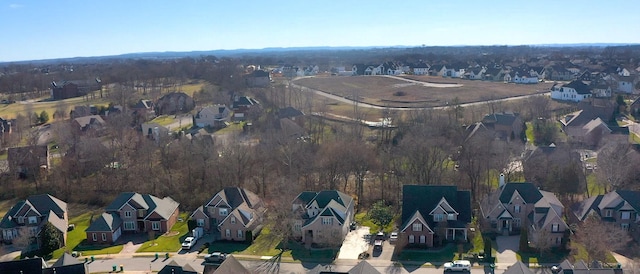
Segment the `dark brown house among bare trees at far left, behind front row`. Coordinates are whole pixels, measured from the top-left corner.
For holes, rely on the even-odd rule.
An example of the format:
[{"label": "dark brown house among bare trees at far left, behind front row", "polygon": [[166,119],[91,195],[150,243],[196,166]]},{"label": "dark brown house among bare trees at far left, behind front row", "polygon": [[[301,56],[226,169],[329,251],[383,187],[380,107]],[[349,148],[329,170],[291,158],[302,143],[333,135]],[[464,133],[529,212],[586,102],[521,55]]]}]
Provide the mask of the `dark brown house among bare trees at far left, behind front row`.
[{"label": "dark brown house among bare trees at far left, behind front row", "polygon": [[49,147],[10,147],[7,149],[7,164],[9,172],[16,174],[18,178],[32,178],[50,167]]}]

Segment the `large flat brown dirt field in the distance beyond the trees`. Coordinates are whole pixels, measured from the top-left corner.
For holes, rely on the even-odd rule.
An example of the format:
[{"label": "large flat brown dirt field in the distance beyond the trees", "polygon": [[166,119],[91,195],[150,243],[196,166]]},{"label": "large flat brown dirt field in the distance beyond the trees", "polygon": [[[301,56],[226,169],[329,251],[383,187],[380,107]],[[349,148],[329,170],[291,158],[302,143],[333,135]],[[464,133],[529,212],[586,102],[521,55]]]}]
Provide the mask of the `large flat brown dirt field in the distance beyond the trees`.
[{"label": "large flat brown dirt field in the distance beyond the trees", "polygon": [[433,76],[312,77],[296,80],[296,84],[388,107],[445,106],[456,97],[460,103],[478,102],[542,93],[552,85],[516,85]]}]

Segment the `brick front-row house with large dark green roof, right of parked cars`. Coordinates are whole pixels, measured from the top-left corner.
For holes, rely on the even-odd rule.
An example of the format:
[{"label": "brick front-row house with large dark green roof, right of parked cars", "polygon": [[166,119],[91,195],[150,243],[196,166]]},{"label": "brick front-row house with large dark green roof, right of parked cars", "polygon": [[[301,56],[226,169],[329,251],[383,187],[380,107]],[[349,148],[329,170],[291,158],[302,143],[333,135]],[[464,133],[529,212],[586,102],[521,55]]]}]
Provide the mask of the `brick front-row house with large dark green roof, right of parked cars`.
[{"label": "brick front-row house with large dark green roof, right of parked cars", "polygon": [[457,186],[402,187],[399,245],[434,247],[466,241],[471,223],[471,192]]}]

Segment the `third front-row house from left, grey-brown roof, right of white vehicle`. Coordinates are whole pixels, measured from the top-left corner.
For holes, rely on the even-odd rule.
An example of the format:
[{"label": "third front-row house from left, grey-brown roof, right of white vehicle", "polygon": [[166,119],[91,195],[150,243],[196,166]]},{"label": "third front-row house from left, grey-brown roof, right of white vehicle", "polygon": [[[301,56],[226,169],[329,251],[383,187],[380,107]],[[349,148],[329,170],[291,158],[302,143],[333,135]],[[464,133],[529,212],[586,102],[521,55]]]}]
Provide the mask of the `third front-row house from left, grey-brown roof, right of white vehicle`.
[{"label": "third front-row house from left, grey-brown roof, right of white vehicle", "polygon": [[239,187],[225,187],[189,217],[206,231],[220,233],[220,239],[252,240],[262,229],[266,211],[262,199]]}]

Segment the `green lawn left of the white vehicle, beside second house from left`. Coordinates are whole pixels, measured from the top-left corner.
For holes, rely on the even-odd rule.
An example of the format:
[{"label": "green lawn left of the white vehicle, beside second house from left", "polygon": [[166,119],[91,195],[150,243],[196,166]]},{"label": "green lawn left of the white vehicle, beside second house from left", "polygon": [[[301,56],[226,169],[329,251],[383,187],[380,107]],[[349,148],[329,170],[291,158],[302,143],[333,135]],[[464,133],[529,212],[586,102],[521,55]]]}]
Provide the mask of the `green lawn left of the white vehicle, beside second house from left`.
[{"label": "green lawn left of the white vehicle, beside second house from left", "polygon": [[144,242],[136,252],[176,252],[180,250],[182,241],[187,237],[189,226],[187,226],[188,214],[180,214],[182,222],[177,222],[170,232],[162,235],[153,235],[155,239]]}]

